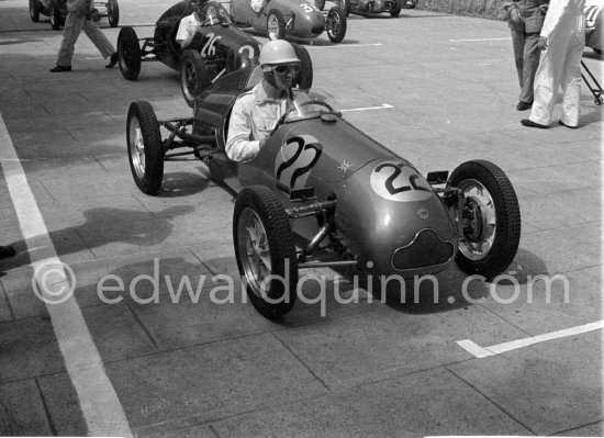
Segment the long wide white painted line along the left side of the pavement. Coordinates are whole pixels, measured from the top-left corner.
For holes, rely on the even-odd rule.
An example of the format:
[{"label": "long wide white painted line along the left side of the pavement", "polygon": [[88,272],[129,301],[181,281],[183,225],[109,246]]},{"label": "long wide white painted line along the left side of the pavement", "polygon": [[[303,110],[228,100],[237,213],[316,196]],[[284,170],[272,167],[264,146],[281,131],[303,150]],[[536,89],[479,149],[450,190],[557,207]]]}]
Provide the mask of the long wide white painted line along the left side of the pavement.
[{"label": "long wide white painted line along the left side of the pavement", "polygon": [[[132,437],[124,409],[72,296],[76,288],[74,272],[56,254],[1,114],[0,156],[9,194],[34,268],[32,289],[46,304],[65,367],[78,394],[88,434]],[[33,248],[36,250],[33,251]]]}]

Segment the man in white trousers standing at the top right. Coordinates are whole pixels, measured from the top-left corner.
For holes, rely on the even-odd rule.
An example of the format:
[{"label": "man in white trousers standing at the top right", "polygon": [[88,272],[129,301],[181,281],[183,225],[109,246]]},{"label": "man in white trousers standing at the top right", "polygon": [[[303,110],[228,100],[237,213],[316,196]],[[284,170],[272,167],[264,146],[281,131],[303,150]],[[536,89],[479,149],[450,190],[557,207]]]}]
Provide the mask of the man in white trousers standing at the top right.
[{"label": "man in white trousers standing at the top right", "polygon": [[585,0],[551,0],[539,36],[541,59],[535,76],[535,101],[530,116],[521,123],[548,127],[562,86],[560,125],[577,128],[580,116],[581,57],[585,47]]}]

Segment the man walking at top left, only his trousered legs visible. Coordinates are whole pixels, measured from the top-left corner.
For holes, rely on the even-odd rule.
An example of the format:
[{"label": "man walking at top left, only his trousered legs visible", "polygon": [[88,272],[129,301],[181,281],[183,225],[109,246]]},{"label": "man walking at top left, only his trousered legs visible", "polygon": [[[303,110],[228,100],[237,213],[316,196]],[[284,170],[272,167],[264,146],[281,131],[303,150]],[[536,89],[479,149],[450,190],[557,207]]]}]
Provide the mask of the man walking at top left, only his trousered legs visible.
[{"label": "man walking at top left, only his trousered legs visible", "polygon": [[112,68],[118,64],[115,47],[101,31],[99,23],[92,20],[93,4],[93,0],[67,0],[67,18],[63,29],[63,42],[57,55],[57,65],[51,68],[52,72],[71,71],[74,46],[82,30],[97,46],[103,58],[110,58],[107,68]]}]

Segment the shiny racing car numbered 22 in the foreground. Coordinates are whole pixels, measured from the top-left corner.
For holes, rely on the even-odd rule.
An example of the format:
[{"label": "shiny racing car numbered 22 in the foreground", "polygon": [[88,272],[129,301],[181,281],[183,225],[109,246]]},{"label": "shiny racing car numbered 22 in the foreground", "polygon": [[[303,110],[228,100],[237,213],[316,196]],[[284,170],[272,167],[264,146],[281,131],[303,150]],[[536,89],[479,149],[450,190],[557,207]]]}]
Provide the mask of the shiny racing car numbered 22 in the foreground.
[{"label": "shiny racing car numbered 22 in the foreground", "polygon": [[[450,177],[436,171],[424,178],[348,123],[327,92],[293,90],[290,110],[259,154],[231,161],[224,147],[233,104],[261,76],[256,67],[221,77],[183,119],[158,121],[148,102],[133,102],[126,139],[144,193],[159,191],[164,164],[177,148],[192,149],[211,178],[236,193],[235,257],[262,315],[292,308],[301,269],[353,266],[401,278],[436,273],[454,260],[484,278],[507,269],[518,248],[521,213],[497,166],[472,160]],[[160,126],[170,133],[165,138]]]}]

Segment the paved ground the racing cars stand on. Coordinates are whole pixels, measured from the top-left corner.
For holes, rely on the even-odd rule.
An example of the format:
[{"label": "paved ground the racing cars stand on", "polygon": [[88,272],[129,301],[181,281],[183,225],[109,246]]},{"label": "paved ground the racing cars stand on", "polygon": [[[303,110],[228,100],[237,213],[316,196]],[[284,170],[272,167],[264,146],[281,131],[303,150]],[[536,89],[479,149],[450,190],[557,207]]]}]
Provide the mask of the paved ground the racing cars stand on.
[{"label": "paved ground the racing cars stand on", "polygon": [[[61,33],[26,3],[0,1],[0,244],[18,251],[0,260],[0,436],[603,435],[602,108],[583,87],[578,130],[560,102],[550,128],[522,126],[506,23],[403,10],[306,44],[313,86],[422,172],[504,169],[522,213],[505,279],[467,291],[450,267],[436,293],[382,303],[325,269],[271,322],[241,293],[233,199],[203,165],[166,164],[157,196],[133,182],[128,105],[190,115],[178,74],[127,81],[83,34],[51,74]],[[120,9],[150,36],[167,4]],[[45,303],[44,279],[75,300]]]}]

